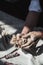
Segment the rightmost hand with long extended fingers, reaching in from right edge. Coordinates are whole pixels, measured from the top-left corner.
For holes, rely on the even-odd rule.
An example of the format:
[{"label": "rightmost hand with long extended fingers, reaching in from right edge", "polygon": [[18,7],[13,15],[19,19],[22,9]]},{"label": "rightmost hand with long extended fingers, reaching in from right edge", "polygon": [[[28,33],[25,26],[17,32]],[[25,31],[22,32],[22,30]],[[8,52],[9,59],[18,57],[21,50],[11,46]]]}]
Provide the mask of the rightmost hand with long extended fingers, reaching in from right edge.
[{"label": "rightmost hand with long extended fingers, reaching in from right edge", "polygon": [[24,38],[27,38],[28,39],[28,42],[26,44],[23,44],[21,47],[23,49],[29,49],[34,44],[33,42],[37,38],[40,38],[41,37],[41,32],[32,31],[32,32],[29,32],[28,34],[24,35],[23,37]]}]

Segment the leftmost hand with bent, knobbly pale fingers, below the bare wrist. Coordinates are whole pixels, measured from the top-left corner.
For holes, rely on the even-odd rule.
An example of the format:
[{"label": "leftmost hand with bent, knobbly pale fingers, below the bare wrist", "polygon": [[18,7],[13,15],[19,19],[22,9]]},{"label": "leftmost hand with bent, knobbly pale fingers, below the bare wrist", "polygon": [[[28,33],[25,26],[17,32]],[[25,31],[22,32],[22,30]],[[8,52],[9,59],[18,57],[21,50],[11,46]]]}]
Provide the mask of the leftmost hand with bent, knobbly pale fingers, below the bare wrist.
[{"label": "leftmost hand with bent, knobbly pale fingers, below the bare wrist", "polygon": [[17,34],[17,35],[13,35],[10,41],[10,44],[16,44],[16,45],[21,45],[21,38],[22,38],[23,34]]}]

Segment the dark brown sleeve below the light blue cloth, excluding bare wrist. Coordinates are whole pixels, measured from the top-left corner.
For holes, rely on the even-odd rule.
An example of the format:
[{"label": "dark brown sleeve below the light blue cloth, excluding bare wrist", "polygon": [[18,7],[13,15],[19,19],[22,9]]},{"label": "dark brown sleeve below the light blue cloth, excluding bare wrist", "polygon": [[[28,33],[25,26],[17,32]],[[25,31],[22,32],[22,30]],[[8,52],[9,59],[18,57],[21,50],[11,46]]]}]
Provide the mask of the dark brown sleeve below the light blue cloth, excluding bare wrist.
[{"label": "dark brown sleeve below the light blue cloth, excluding bare wrist", "polygon": [[29,28],[34,28],[37,25],[39,19],[39,13],[31,11],[28,13],[26,21],[25,21],[25,26]]}]

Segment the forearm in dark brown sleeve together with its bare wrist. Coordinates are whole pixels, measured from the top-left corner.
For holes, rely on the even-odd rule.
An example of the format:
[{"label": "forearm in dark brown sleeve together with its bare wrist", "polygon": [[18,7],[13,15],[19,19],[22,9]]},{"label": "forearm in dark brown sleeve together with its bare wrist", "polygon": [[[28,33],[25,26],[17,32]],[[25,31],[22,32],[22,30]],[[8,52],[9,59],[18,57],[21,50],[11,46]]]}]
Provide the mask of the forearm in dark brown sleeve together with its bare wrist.
[{"label": "forearm in dark brown sleeve together with its bare wrist", "polygon": [[39,18],[39,13],[38,12],[29,12],[26,21],[24,24],[24,28],[22,30],[22,33],[28,33],[31,31],[32,28],[34,28],[37,25],[37,21]]}]

